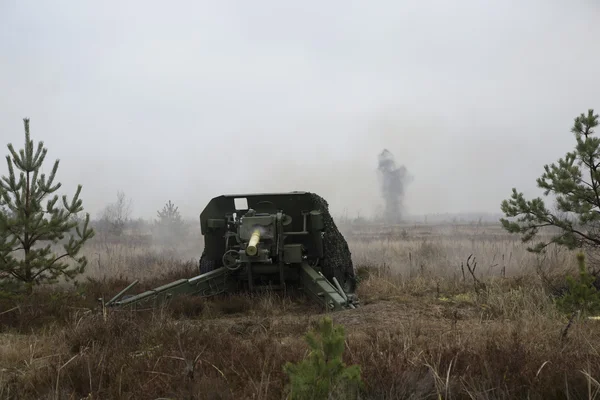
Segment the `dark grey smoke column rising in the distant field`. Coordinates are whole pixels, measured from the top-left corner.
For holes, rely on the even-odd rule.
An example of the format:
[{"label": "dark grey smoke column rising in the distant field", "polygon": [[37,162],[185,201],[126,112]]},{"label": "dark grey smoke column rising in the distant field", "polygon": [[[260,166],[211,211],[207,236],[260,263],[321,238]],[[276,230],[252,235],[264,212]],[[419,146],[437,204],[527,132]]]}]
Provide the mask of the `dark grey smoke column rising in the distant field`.
[{"label": "dark grey smoke column rising in the distant field", "polygon": [[379,154],[377,171],[381,182],[381,194],[385,201],[384,218],[388,222],[400,222],[404,211],[404,191],[409,181],[404,165],[397,167],[394,155],[387,149]]}]

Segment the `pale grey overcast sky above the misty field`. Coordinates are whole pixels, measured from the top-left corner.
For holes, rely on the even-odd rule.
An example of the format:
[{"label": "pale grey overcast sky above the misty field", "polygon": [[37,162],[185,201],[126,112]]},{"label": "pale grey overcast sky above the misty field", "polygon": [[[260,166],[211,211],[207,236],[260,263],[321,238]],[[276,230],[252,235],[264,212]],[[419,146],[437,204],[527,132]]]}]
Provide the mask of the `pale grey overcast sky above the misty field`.
[{"label": "pale grey overcast sky above the misty field", "polygon": [[0,0],[1,153],[30,117],[93,216],[118,190],[143,217],[287,190],[369,214],[384,148],[411,214],[499,212],[600,111],[599,21],[592,0]]}]

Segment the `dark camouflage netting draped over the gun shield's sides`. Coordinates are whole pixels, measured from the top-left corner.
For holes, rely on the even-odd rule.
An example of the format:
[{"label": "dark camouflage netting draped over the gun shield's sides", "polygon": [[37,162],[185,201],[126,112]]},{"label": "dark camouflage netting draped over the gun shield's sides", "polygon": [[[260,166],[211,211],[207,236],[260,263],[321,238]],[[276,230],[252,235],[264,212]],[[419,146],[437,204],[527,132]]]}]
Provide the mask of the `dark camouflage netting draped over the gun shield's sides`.
[{"label": "dark camouflage netting draped over the gun shield's sides", "polygon": [[[348,243],[331,217],[327,201],[315,193],[308,193],[308,195],[311,199],[312,208],[320,210],[323,214],[325,228],[323,237],[324,257],[320,262],[323,267],[323,275],[327,279],[332,279],[335,276],[345,290],[354,292],[356,289],[356,276]],[[220,262],[207,259],[205,251],[202,251],[200,257],[201,274],[221,267]]]}]

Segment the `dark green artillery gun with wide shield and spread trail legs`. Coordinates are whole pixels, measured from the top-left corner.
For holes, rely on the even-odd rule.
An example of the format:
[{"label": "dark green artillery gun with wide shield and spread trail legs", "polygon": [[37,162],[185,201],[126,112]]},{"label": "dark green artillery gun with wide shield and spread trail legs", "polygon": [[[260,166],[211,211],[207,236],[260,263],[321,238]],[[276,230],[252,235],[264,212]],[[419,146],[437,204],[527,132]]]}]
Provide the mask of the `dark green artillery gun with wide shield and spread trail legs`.
[{"label": "dark green artillery gun with wide shield and spread trail legs", "polygon": [[352,309],[355,271],[327,202],[310,192],[222,195],[200,214],[200,275],[106,303],[123,307],[178,295],[299,288],[327,311]]}]

